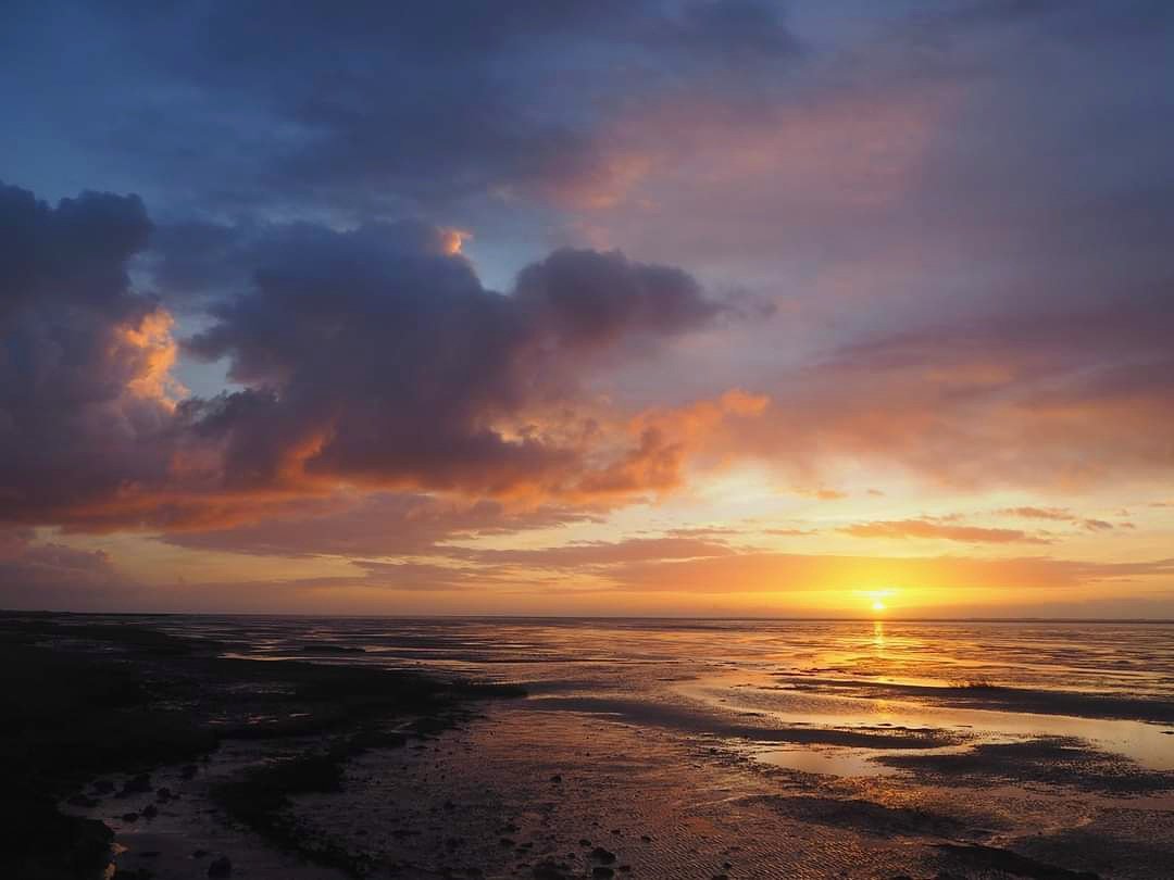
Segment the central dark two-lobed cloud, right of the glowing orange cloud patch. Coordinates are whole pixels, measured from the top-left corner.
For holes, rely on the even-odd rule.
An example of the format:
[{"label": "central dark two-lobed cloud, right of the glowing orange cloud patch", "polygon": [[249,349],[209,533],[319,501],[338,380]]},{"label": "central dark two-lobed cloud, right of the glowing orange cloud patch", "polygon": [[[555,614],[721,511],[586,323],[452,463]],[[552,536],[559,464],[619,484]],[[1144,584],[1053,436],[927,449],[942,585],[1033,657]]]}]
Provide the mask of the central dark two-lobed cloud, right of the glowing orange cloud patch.
[{"label": "central dark two-lobed cloud, right of the glowing orange cloud patch", "polygon": [[255,290],[215,306],[187,343],[228,358],[249,388],[182,407],[223,440],[237,486],[297,474],[569,490],[576,442],[525,422],[507,436],[500,422],[573,397],[621,344],[647,347],[721,311],[688,275],[615,252],[558,251],[502,296],[419,224],[276,235],[257,251]]}]

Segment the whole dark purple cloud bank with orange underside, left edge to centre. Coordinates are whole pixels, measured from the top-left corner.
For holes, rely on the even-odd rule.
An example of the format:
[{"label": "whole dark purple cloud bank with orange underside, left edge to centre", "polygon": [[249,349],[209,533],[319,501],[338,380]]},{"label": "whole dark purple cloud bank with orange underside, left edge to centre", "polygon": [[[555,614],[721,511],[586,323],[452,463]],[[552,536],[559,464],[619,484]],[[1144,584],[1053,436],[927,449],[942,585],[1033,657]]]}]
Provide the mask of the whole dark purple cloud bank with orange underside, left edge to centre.
[{"label": "whole dark purple cloud bank with orange underside, left edge to centre", "polygon": [[[340,481],[473,497],[663,490],[681,447],[576,413],[581,386],[726,311],[687,273],[619,252],[556,251],[507,296],[483,286],[459,236],[419,222],[204,224],[162,275],[185,279],[189,306],[236,279],[187,347],[225,359],[243,388],[176,404],[170,314],[127,276],[150,229],[142,203],[86,194],[53,208],[8,188],[0,217],[12,521],[214,528]],[[599,485],[620,472],[622,487]],[[463,516],[447,528],[525,526],[499,508]]]}]

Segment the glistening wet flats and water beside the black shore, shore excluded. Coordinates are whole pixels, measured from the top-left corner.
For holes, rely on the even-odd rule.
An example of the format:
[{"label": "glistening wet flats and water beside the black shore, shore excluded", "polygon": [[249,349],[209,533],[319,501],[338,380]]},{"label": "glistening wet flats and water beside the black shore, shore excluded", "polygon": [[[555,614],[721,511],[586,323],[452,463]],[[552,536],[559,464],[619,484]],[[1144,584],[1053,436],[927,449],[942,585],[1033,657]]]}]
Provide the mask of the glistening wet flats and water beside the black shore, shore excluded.
[{"label": "glistening wet flats and water beside the black shore, shore excluded", "polygon": [[[411,866],[389,875],[534,876],[553,860],[587,878],[600,844],[657,880],[1004,876],[966,860],[974,844],[1106,878],[1174,864],[1174,624],[144,623],[258,661],[526,686],[479,719],[355,759],[340,793],[297,798],[306,833]],[[262,759],[258,747],[224,746],[207,774]],[[176,852],[205,838],[228,851],[202,779],[161,817],[170,826],[115,818],[120,841],[162,848],[158,828],[174,826]],[[272,858],[249,846],[237,844],[243,864]]]}]

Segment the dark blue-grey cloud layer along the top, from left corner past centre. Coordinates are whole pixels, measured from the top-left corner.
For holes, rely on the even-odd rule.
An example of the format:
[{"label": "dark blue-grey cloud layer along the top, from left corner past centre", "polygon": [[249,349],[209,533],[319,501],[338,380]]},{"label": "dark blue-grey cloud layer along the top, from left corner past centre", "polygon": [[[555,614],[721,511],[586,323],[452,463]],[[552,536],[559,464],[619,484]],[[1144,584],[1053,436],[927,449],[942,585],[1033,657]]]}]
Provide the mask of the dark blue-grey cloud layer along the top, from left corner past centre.
[{"label": "dark blue-grey cloud layer along the top, from left corner past centre", "polygon": [[[458,15],[420,0],[247,0],[182,16],[48,2],[8,23],[15,79],[36,57],[66,61],[41,119],[12,95],[31,124],[68,114],[107,168],[228,209],[587,203],[628,174],[601,120],[686,86],[770,83],[798,50],[767,0],[527,0]],[[101,63],[67,53],[82,35],[106,48]]]}]

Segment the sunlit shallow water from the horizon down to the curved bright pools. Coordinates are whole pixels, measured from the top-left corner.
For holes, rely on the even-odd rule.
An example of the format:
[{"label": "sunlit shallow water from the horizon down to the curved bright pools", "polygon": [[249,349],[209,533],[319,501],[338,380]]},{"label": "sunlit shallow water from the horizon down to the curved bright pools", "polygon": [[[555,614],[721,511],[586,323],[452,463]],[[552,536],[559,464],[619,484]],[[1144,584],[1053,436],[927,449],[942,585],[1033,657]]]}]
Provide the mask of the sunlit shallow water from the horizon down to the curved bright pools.
[{"label": "sunlit shallow water from the horizon down to the curved bright pools", "polygon": [[[581,710],[582,700],[592,699],[598,711],[623,717],[641,706],[634,720],[691,733],[754,739],[755,730],[888,726],[993,742],[1077,737],[1145,767],[1174,770],[1172,623],[204,616],[149,622],[221,639],[234,656],[515,682],[545,710]],[[325,647],[349,650],[319,652]],[[814,772],[888,772],[870,767],[868,753],[835,760],[811,749],[788,754],[794,758],[788,766]]]}]

